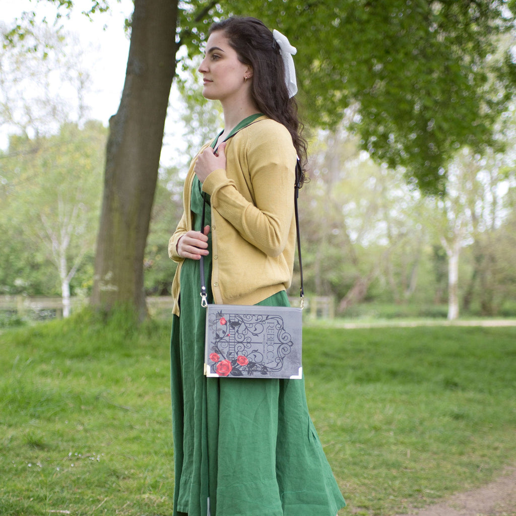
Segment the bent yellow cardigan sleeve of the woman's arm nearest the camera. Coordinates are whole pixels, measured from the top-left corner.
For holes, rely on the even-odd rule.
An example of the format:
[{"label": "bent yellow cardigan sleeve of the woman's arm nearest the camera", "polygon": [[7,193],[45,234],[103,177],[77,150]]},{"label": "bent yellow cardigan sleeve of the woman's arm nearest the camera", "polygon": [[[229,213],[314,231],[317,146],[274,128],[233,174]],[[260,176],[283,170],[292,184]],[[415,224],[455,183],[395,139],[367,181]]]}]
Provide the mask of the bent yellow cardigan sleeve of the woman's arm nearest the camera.
[{"label": "bent yellow cardigan sleeve of the woman's arm nearest the camera", "polygon": [[268,256],[278,256],[287,244],[294,214],[296,151],[283,125],[269,120],[256,126],[259,130],[248,132],[244,147],[234,150],[239,162],[235,166],[251,182],[253,202],[222,169],[208,175],[203,190],[211,196],[212,208],[245,240]]}]

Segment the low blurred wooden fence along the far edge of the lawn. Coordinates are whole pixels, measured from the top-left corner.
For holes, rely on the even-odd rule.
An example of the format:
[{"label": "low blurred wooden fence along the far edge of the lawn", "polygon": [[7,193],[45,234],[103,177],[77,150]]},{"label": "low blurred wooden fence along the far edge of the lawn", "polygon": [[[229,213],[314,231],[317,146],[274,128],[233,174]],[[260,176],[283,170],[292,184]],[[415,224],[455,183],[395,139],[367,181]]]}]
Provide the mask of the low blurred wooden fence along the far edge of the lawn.
[{"label": "low blurred wooden fence along the far edge of the lawn", "polygon": [[[294,307],[299,306],[299,297],[289,298]],[[72,312],[88,303],[83,297],[70,298]],[[170,316],[172,313],[171,296],[147,297],[147,308],[152,316]],[[28,297],[0,296],[0,311],[5,311],[18,317],[36,319],[61,318],[62,299],[60,297]],[[329,296],[305,296],[304,313],[317,319],[332,319],[335,316],[335,303]]]}]

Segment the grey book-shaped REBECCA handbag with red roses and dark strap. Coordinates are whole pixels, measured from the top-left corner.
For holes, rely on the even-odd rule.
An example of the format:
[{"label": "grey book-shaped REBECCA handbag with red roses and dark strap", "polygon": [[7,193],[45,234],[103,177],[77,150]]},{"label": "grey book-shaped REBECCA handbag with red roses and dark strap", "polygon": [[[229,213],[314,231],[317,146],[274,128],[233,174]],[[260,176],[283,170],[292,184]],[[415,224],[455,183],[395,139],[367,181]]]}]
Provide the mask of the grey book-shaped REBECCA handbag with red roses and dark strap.
[{"label": "grey book-shaped REBECCA handbag with red roses and dark strap", "polygon": [[[297,200],[301,166],[296,165],[294,209],[301,276],[300,308],[208,304],[201,256],[201,303],[206,308],[204,374],[225,378],[302,378],[304,291]],[[203,204],[201,228],[204,227]]]}]

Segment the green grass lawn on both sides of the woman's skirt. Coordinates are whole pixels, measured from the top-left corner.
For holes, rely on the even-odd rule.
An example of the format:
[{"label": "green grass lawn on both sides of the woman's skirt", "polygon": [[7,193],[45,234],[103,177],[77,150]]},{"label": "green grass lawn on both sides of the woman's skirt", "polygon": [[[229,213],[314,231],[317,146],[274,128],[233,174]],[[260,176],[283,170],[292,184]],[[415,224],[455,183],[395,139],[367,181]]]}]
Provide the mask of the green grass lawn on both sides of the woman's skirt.
[{"label": "green grass lawn on both sides of the woman's skirt", "polygon": [[[84,312],[0,335],[2,516],[171,516],[169,332]],[[340,514],[423,506],[516,463],[516,328],[308,326],[303,347]]]}]

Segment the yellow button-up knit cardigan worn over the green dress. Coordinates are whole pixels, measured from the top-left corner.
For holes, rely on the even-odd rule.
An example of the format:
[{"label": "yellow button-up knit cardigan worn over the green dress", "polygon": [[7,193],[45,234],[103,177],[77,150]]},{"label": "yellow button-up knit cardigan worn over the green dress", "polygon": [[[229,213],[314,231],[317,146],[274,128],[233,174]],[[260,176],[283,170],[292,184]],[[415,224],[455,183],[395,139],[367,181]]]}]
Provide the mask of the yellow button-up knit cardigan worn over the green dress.
[{"label": "yellow button-up knit cardigan worn over the green dress", "polygon": [[[202,185],[211,196],[213,298],[216,304],[251,305],[288,288],[292,281],[296,150],[287,128],[263,116],[228,140],[225,155],[225,170],[214,170]],[[176,246],[192,229],[196,159],[185,180],[183,216],[168,245],[169,256],[179,262],[172,283],[176,315],[184,261]]]}]

